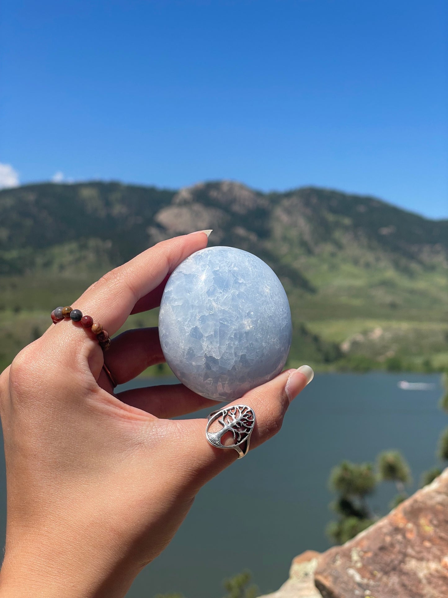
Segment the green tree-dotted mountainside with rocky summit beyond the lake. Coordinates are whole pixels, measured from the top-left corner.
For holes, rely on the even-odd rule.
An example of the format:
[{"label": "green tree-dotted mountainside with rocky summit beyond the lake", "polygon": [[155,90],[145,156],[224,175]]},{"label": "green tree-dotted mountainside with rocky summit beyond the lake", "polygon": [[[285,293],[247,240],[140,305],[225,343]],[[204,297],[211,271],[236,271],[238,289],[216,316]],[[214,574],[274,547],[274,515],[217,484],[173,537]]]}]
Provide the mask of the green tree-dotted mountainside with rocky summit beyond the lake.
[{"label": "green tree-dotted mountainside with rocky summit beyond the lake", "polygon": [[[0,191],[0,365],[54,306],[161,239],[213,228],[210,245],[265,260],[290,299],[290,364],[448,367],[448,221],[318,188],[263,194],[209,182],[180,191],[115,182]],[[155,324],[157,313],[128,325]]]}]

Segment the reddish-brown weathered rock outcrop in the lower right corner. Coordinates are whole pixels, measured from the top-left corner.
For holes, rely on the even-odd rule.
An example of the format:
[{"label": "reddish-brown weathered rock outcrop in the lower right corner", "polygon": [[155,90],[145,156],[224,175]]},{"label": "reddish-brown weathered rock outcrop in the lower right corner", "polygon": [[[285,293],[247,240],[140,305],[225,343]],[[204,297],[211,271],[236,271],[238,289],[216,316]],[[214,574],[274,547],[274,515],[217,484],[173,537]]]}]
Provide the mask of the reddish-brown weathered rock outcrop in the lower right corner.
[{"label": "reddish-brown weathered rock outcrop in the lower right corner", "polygon": [[358,596],[448,596],[448,468],[343,546],[296,557],[269,598]]}]

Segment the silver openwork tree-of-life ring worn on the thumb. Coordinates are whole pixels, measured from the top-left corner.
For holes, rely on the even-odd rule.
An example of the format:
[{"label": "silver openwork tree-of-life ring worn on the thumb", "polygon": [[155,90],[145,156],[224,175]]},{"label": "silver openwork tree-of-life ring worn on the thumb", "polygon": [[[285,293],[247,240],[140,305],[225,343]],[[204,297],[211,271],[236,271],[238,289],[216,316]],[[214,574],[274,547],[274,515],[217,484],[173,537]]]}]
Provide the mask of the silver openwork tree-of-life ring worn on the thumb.
[{"label": "silver openwork tree-of-life ring worn on the thumb", "polygon": [[[214,422],[220,424],[221,428],[210,432]],[[244,457],[249,450],[250,436],[255,425],[255,411],[247,405],[232,405],[218,411],[213,411],[208,416],[205,437],[211,446],[217,449],[235,449],[238,459]],[[221,444],[221,439],[226,434],[231,434],[233,444]]]}]

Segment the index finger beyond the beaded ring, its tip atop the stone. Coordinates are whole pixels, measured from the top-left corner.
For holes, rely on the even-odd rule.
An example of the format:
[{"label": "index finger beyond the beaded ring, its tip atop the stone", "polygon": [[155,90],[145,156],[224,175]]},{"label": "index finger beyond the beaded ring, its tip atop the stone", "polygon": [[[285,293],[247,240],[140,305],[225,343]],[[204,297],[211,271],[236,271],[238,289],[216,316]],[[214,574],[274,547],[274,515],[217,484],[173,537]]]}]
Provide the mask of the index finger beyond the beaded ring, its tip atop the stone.
[{"label": "index finger beyond the beaded ring, its tip atop the stone", "polygon": [[207,233],[198,231],[174,237],[146,249],[93,283],[73,307],[114,334],[142,297],[157,289],[185,258],[207,246]]}]

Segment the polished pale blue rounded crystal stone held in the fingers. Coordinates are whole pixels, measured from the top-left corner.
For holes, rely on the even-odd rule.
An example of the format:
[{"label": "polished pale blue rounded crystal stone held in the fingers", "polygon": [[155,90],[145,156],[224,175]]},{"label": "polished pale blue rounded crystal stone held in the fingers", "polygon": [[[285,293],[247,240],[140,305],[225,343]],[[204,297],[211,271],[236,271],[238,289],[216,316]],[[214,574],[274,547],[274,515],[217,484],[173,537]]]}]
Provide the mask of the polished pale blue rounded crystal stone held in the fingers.
[{"label": "polished pale blue rounded crystal stone held in the fingers", "polygon": [[202,249],[168,279],[159,335],[168,365],[199,395],[230,401],[284,367],[291,312],[274,272],[247,251]]}]

